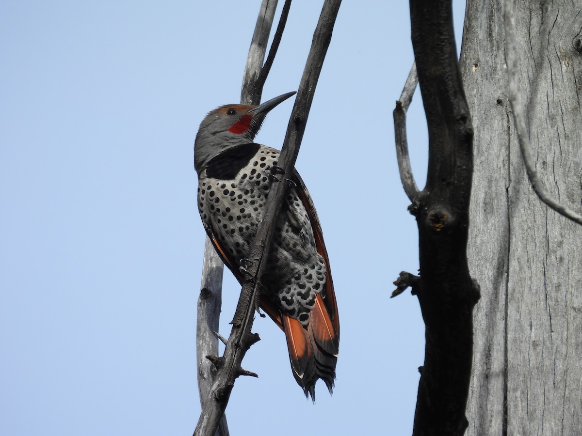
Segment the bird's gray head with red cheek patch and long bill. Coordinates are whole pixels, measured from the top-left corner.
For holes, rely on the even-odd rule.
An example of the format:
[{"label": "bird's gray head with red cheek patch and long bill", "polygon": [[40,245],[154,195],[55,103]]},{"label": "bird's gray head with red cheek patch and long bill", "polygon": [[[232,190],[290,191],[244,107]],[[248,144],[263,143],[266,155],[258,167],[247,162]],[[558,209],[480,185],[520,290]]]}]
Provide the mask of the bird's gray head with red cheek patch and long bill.
[{"label": "bird's gray head with red cheek patch and long bill", "polygon": [[194,168],[204,169],[210,159],[232,146],[252,143],[269,110],[295,92],[279,95],[257,106],[223,105],[200,123],[194,142]]}]

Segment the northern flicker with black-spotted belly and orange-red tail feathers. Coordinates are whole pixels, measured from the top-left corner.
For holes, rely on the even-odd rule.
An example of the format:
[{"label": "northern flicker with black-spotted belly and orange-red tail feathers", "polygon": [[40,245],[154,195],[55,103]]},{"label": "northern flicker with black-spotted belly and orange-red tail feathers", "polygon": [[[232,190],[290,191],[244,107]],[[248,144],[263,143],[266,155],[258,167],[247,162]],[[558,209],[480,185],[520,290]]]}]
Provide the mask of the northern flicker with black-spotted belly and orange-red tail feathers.
[{"label": "northern flicker with black-spotted belly and orange-red tail feathers", "polygon": [[[253,142],[269,110],[289,92],[258,106],[224,105],[204,118],[194,143],[198,209],[225,265],[240,283],[240,267],[264,213],[279,151]],[[293,376],[315,399],[321,378],[332,392],[339,352],[339,317],[320,221],[296,170],[283,201],[267,270],[259,278],[260,306],[285,332]]]}]

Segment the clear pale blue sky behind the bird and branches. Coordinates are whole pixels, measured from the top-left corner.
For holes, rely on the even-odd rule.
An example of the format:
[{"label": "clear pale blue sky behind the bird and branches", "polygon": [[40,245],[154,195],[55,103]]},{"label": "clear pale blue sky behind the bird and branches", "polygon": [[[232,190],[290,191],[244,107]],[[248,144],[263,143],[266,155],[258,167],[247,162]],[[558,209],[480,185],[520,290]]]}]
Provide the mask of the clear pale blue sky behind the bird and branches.
[{"label": "clear pale blue sky behind the bird and branches", "polygon": [[[194,430],[205,237],[194,136],[205,113],[239,101],[259,3],[0,3],[0,434]],[[320,9],[293,3],[264,99],[297,89]],[[281,331],[257,319],[262,340],[243,367],[260,377],[235,384],[233,435],[411,432],[424,325],[409,292],[389,299],[399,272],[418,269],[392,122],[413,62],[409,23],[407,2],[343,3],[297,160],[338,296],[335,393],[318,384],[307,401]],[[292,104],[258,142],[281,146]],[[225,336],[238,295],[227,271]]]}]

